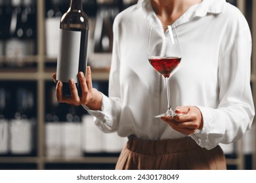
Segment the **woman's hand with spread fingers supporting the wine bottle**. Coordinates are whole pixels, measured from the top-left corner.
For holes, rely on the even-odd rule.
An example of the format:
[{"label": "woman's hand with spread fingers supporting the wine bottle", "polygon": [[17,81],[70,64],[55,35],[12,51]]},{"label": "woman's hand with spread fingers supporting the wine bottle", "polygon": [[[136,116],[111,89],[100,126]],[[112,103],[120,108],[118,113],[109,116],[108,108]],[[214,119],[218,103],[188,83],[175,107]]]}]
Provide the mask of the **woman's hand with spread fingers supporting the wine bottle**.
[{"label": "woman's hand with spread fingers supporting the wine bottle", "polygon": [[86,79],[83,72],[78,73],[79,82],[81,84],[82,96],[79,97],[74,80],[69,80],[71,97],[62,96],[62,82],[56,80],[56,73],[53,73],[53,80],[56,84],[56,99],[60,103],[68,103],[72,105],[86,105],[92,110],[100,110],[102,106],[102,95],[98,90],[93,88],[91,78],[91,67],[87,66]]}]

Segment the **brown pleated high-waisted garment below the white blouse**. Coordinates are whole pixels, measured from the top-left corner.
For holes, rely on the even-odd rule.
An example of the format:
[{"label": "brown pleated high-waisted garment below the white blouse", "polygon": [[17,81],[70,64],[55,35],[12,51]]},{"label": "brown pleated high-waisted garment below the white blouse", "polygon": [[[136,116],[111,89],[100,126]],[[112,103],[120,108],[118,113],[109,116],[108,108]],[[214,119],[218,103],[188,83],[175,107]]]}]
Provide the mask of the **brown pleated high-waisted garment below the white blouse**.
[{"label": "brown pleated high-waisted garment below the white blouse", "polygon": [[131,135],[116,169],[225,170],[226,159],[220,146],[206,150],[191,137],[151,141]]}]

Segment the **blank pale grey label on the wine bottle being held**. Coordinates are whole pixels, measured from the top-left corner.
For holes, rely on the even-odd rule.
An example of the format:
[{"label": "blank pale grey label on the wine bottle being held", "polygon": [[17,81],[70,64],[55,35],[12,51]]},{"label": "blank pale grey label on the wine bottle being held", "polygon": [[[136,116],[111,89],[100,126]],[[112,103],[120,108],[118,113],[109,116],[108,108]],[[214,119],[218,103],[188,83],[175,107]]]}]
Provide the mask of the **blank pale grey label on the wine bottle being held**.
[{"label": "blank pale grey label on the wine bottle being held", "polygon": [[74,79],[77,83],[80,42],[80,31],[66,31],[60,29],[60,45],[56,75],[57,80],[68,82],[68,80]]}]

